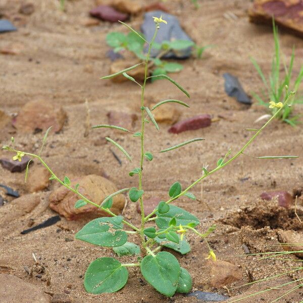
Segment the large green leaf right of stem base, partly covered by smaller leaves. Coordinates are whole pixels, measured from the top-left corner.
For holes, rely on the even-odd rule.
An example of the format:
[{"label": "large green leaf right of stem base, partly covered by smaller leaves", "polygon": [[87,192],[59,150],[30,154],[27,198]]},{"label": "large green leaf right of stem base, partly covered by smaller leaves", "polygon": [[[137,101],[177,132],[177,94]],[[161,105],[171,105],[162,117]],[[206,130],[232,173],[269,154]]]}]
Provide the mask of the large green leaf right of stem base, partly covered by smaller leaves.
[{"label": "large green leaf right of stem base, partly covered by smaller leaves", "polygon": [[180,224],[182,226],[187,225],[188,223],[192,223],[194,226],[197,226],[200,223],[197,217],[175,205],[170,205],[169,211],[166,214],[160,214],[157,210],[156,215],[156,224],[159,228],[168,228],[169,222],[173,217],[176,218],[177,226]]}]

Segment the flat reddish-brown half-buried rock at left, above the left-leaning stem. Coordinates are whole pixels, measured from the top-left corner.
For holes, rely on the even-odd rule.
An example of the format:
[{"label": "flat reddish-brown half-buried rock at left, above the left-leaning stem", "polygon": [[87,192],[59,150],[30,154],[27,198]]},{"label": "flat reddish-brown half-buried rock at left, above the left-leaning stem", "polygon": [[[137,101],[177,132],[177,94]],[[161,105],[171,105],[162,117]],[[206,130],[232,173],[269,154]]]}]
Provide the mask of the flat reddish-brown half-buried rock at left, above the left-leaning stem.
[{"label": "flat reddish-brown half-buried rock at left, above the left-leaning stem", "polygon": [[51,132],[58,132],[63,128],[66,117],[66,112],[61,106],[34,100],[22,107],[12,123],[18,131],[24,133],[33,133],[37,130],[46,131],[49,126],[53,126]]}]

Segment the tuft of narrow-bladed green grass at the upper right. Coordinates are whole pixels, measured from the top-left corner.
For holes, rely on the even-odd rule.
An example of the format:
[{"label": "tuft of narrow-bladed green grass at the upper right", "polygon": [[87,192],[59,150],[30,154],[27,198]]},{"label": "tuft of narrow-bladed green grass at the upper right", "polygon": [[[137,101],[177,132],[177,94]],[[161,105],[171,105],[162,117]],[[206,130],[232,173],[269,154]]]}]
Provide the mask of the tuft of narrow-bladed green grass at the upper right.
[{"label": "tuft of narrow-bladed green grass at the upper right", "polygon": [[[292,69],[294,63],[294,48],[292,49],[292,54],[290,58],[290,62],[288,67],[284,63],[284,71],[285,75],[282,79],[280,79],[280,64],[281,64],[281,54],[280,54],[280,42],[278,36],[278,28],[275,25],[275,21],[273,19],[273,32],[274,32],[274,41],[275,41],[275,54],[272,60],[272,68],[271,74],[269,75],[268,80],[266,79],[262,69],[258,65],[257,61],[254,58],[250,58],[252,64],[254,64],[257,72],[259,73],[267,93],[263,91],[263,97],[259,94],[254,93],[254,96],[258,100],[260,105],[263,105],[268,108],[268,102],[273,101],[275,103],[279,103],[284,99],[285,90],[284,87],[291,85],[291,78],[292,78]],[[294,90],[297,91],[303,77],[303,66],[301,66],[299,74],[297,75],[296,79],[294,80]],[[277,119],[282,120],[292,126],[298,122],[298,116],[291,117],[291,113],[293,111],[293,106],[295,104],[302,104],[303,99],[300,98],[292,98],[289,102],[289,106],[285,107],[279,115],[277,115]],[[275,113],[276,109],[272,109],[272,113]]]}]

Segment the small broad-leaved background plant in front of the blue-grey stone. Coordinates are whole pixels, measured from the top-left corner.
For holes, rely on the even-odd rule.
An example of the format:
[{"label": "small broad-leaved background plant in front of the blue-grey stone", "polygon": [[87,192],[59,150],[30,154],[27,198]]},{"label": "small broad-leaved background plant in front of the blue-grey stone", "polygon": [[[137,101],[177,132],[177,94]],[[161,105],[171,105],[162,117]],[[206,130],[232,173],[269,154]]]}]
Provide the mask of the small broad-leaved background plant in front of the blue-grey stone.
[{"label": "small broad-leaved background plant in front of the blue-grey stone", "polygon": [[[106,42],[113,48],[115,53],[127,50],[133,53],[140,61],[145,62],[147,55],[144,54],[144,44],[148,43],[142,33],[134,32],[127,24],[121,22],[127,26],[131,31],[125,35],[121,32],[111,32],[106,36]],[[203,47],[197,46],[193,41],[188,40],[174,40],[163,41],[161,44],[154,42],[153,48],[160,51],[156,58],[148,58],[148,69],[152,70],[152,75],[159,75],[167,73],[179,72],[183,69],[183,66],[176,62],[168,62],[162,60],[162,58],[171,51],[182,51],[188,47],[192,47],[195,50],[196,58],[200,59],[206,48],[212,45],[206,45]],[[151,78],[151,81],[155,81],[160,78]]]}]

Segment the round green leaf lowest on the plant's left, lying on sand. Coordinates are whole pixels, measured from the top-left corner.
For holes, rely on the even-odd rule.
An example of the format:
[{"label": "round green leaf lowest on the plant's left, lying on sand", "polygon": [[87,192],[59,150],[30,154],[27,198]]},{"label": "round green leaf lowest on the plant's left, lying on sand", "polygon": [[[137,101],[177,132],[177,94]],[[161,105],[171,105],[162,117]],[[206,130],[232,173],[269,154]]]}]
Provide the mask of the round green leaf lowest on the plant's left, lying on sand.
[{"label": "round green leaf lowest on the plant's left, lying on sand", "polygon": [[90,263],[84,276],[84,287],[90,293],[115,292],[127,282],[128,271],[114,258],[98,258]]}]

